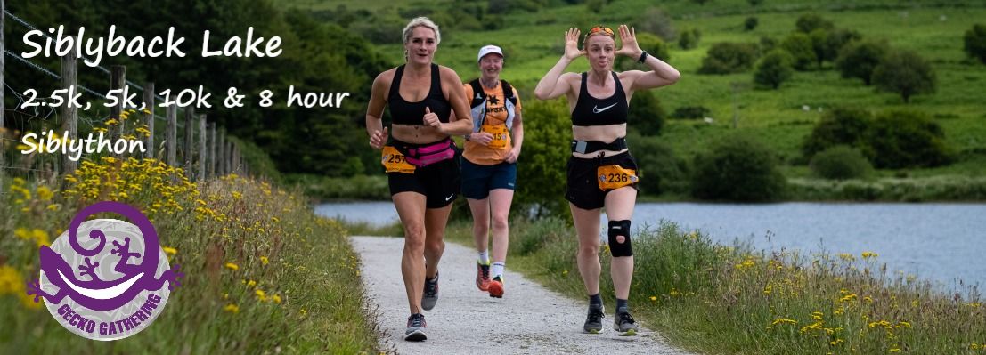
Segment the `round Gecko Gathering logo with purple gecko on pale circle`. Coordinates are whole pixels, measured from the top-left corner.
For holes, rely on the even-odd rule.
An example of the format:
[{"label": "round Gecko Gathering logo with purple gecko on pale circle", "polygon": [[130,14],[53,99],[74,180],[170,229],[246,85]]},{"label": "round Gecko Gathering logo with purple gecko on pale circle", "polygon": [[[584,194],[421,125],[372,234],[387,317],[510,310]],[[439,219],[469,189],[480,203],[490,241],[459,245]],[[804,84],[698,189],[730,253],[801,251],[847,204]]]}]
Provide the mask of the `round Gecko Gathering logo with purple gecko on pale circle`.
[{"label": "round Gecko Gathering logo with purple gecko on pale circle", "polygon": [[[102,212],[122,215],[133,224],[86,221]],[[177,265],[169,265],[151,221],[120,202],[83,208],[68,231],[39,252],[39,279],[28,283],[28,295],[35,302],[43,299],[62,326],[96,340],[122,339],[149,326],[180,286],[177,278],[184,276]]]}]

